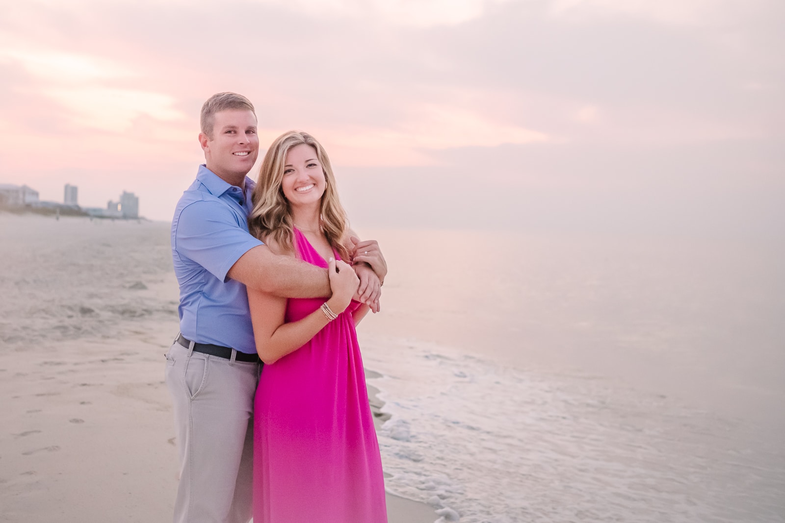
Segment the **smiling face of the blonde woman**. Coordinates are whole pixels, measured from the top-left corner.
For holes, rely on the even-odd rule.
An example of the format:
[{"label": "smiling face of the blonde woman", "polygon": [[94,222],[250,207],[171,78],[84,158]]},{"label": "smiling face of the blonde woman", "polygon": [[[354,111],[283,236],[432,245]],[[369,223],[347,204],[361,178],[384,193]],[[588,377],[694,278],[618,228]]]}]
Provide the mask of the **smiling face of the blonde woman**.
[{"label": "smiling face of the blonde woman", "polygon": [[283,195],[290,205],[312,205],[319,202],[327,182],[316,149],[301,143],[287,151],[283,167]]}]

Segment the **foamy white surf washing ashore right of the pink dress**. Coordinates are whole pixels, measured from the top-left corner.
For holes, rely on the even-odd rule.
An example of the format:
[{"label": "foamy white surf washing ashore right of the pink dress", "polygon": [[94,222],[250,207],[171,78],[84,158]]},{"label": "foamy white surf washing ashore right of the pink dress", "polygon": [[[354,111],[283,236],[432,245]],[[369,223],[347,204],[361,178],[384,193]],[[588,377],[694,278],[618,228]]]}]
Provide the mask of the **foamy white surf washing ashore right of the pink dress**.
[{"label": "foamy white surf washing ashore right of the pink dress", "polygon": [[738,420],[430,343],[367,340],[363,358],[392,415],[387,486],[440,523],[782,521],[785,452]]}]

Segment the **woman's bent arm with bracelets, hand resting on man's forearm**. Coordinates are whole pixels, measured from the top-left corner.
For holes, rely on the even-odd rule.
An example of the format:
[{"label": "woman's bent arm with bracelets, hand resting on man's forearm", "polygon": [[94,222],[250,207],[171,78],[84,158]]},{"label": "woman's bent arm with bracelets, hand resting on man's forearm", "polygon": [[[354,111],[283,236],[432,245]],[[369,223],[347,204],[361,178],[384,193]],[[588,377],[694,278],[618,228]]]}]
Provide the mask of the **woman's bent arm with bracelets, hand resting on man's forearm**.
[{"label": "woman's bent arm with bracelets, hand resting on man's forearm", "polygon": [[[333,296],[327,300],[327,307],[334,314],[341,314],[349,306],[360,281],[352,267],[341,261],[330,260]],[[339,271],[336,271],[336,267]],[[248,289],[248,306],[254,326],[256,351],[266,364],[274,363],[302,347],[330,322],[322,310],[317,309],[301,320],[284,323],[287,299],[255,289]]]}]

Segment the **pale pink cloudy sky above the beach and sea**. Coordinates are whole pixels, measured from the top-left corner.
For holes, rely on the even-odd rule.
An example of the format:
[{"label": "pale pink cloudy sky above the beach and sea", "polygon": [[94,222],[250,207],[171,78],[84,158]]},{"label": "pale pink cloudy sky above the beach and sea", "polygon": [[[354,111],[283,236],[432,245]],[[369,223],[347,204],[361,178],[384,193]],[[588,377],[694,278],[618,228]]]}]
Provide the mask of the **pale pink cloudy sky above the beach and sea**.
[{"label": "pale pink cloudy sky above the beach and sea", "polygon": [[0,183],[53,201],[75,184],[82,206],[132,191],[170,220],[203,159],[199,107],[232,90],[263,147],[287,129],[322,141],[366,223],[765,224],[785,195],[783,15],[777,0],[15,2]]}]

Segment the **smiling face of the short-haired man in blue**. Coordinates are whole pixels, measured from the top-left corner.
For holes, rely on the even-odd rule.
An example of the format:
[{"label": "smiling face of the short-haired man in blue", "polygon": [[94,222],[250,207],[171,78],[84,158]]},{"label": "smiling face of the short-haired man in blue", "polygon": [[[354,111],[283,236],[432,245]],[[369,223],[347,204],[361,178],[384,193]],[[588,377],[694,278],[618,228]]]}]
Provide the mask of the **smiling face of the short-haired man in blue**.
[{"label": "smiling face of the short-haired man in blue", "polygon": [[256,115],[231,109],[214,114],[212,138],[199,134],[207,169],[232,185],[239,185],[259,154]]}]

